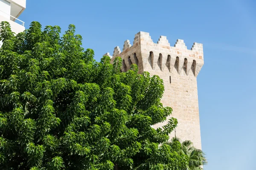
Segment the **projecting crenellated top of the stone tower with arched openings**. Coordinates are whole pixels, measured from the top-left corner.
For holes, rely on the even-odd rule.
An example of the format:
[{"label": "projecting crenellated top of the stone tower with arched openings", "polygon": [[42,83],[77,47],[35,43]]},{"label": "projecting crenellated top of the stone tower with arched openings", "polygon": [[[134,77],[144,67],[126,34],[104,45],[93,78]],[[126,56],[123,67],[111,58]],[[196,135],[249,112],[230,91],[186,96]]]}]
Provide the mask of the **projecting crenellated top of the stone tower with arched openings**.
[{"label": "projecting crenellated top of the stone tower with arched openings", "polygon": [[130,69],[131,64],[137,64],[140,73],[151,68],[169,73],[176,70],[178,74],[185,71],[186,75],[194,74],[197,77],[204,65],[202,44],[195,42],[189,50],[184,41],[178,39],[174,46],[170,46],[166,36],[160,36],[154,43],[149,33],[142,31],[135,34],[133,45],[125,40],[122,50],[116,46],[113,57],[109,53],[105,54],[111,57],[112,62],[115,57],[122,57],[122,71]]}]

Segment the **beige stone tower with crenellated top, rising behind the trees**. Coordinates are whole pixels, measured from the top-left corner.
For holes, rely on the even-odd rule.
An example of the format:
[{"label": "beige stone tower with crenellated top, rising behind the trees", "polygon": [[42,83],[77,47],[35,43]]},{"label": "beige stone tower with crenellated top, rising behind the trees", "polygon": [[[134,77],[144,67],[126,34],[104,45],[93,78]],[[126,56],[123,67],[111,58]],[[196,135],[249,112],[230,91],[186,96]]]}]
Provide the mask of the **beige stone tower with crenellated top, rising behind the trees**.
[{"label": "beige stone tower with crenellated top, rising behind the trees", "polygon": [[[182,141],[191,140],[195,147],[201,149],[201,135],[198,108],[197,75],[204,65],[203,45],[194,43],[188,50],[183,40],[177,40],[174,47],[170,46],[165,36],[160,36],[154,43],[149,33],[140,31],[135,35],[133,45],[124,42],[123,51],[117,46],[113,57],[122,57],[122,71],[137,64],[139,73],[148,71],[158,75],[164,81],[163,106],[173,109],[172,115],[178,120],[178,126],[171,137],[176,136]],[[167,119],[168,121],[168,119]],[[154,125],[162,127],[166,122]]]}]

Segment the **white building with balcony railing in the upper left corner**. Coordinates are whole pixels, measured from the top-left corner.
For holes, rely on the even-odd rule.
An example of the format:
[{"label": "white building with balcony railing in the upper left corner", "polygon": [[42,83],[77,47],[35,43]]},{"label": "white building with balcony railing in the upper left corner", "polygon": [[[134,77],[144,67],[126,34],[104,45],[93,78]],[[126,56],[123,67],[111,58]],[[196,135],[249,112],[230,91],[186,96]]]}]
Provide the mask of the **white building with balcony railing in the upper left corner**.
[{"label": "white building with balcony railing in the upper left corner", "polygon": [[24,22],[18,17],[25,8],[26,0],[0,0],[0,22],[8,21],[15,34],[24,31]]}]

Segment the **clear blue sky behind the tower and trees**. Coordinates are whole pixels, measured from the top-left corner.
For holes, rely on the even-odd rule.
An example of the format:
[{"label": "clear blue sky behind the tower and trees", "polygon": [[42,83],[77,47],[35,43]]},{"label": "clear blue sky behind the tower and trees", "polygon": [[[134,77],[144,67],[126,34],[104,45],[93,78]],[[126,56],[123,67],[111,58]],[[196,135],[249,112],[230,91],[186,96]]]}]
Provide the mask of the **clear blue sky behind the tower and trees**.
[{"label": "clear blue sky behind the tower and trees", "polygon": [[255,0],[27,0],[20,20],[26,28],[39,21],[63,31],[74,24],[97,61],[139,31],[154,42],[164,35],[171,45],[203,43],[198,97],[205,170],[256,170],[255,8]]}]

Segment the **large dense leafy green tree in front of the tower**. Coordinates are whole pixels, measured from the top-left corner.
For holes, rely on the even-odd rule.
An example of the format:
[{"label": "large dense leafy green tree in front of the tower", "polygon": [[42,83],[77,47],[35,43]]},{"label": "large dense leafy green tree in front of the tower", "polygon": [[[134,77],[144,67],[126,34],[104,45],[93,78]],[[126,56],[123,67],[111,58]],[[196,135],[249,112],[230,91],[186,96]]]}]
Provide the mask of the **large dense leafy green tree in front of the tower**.
[{"label": "large dense leafy green tree in front of the tower", "polygon": [[[183,170],[167,144],[177,126],[163,107],[163,80],[122,60],[96,62],[70,25],[38,22],[17,34],[0,24],[1,170]],[[161,144],[161,145],[160,145]]]}]

